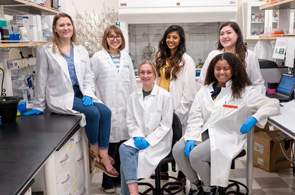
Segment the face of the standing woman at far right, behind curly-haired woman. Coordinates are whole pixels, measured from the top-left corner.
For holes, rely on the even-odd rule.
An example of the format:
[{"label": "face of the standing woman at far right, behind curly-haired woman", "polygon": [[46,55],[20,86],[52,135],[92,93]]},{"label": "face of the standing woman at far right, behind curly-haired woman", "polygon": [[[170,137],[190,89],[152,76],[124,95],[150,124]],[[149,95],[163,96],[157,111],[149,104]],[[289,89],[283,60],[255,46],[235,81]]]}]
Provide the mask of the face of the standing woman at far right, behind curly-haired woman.
[{"label": "face of the standing woman at far right, behind curly-haired woman", "polygon": [[226,49],[230,50],[236,47],[237,34],[231,26],[224,26],[219,32],[220,44]]}]

